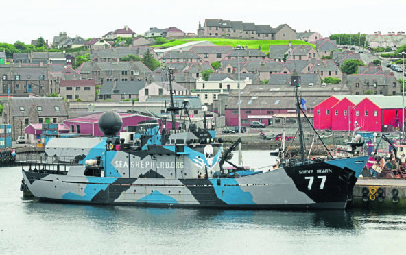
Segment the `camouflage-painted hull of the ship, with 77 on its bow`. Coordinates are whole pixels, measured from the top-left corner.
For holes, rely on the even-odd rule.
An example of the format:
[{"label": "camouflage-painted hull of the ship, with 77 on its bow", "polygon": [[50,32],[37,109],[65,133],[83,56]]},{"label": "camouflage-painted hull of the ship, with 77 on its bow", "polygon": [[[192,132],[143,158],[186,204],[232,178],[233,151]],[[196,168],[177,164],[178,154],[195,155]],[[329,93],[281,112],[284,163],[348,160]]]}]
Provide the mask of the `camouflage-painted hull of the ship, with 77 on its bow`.
[{"label": "camouflage-painted hull of the ship, with 77 on its bow", "polygon": [[[239,178],[115,178],[23,171],[41,200],[174,208],[343,209],[368,157],[282,167]],[[69,170],[71,171],[71,170]]]}]

